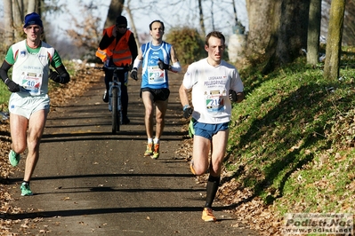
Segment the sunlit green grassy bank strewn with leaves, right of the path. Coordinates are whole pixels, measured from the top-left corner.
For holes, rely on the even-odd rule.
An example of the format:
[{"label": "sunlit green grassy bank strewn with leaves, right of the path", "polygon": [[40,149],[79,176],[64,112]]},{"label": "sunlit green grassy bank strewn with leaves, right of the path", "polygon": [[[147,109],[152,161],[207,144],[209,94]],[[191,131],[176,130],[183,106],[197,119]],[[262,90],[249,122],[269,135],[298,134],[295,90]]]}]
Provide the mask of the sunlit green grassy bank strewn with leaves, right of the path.
[{"label": "sunlit green grassy bank strewn with leaves, right of the path", "polygon": [[225,165],[280,216],[354,208],[355,59],[342,59],[334,81],[305,59],[270,75],[240,71],[246,100],[233,107]]}]

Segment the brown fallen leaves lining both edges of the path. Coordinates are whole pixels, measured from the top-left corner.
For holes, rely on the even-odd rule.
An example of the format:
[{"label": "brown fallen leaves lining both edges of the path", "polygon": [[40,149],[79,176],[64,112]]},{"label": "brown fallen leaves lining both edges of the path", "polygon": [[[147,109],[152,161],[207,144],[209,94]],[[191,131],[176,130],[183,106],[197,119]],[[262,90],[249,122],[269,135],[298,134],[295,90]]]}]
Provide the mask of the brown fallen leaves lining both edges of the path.
[{"label": "brown fallen leaves lining both edges of the path", "polygon": [[[100,71],[90,69],[90,67],[77,66],[76,75],[72,76],[70,86],[52,84],[51,106],[61,106],[69,98],[80,96],[90,86],[93,80],[97,80],[102,75]],[[55,86],[55,87],[53,87]],[[5,107],[3,107],[2,110]],[[185,127],[182,127],[185,129]],[[186,138],[182,140],[184,148],[176,150],[176,153],[186,158],[187,161],[191,158],[192,140]],[[9,188],[7,179],[15,170],[12,168],[8,161],[8,153],[11,146],[9,120],[4,120],[0,124],[0,233],[1,235],[16,235],[12,233],[12,224],[19,224],[18,221],[13,222],[7,219],[9,214],[16,214],[22,212],[20,208],[14,208],[12,206],[12,196],[8,193]],[[206,176],[196,178],[197,185],[206,185]],[[238,220],[249,225],[260,232],[261,235],[277,235],[280,225],[280,219],[275,218],[272,214],[272,208],[266,208],[262,203],[262,200],[255,198],[253,193],[247,189],[242,189],[238,183],[230,176],[230,173],[224,171],[222,176],[222,184],[217,193],[215,201],[220,201],[223,205],[231,206],[231,212],[233,212]],[[36,222],[41,221],[40,218],[27,219],[20,222],[23,228],[24,234],[26,229],[36,227]],[[233,227],[241,227],[240,225],[232,225]],[[50,233],[42,230],[39,233]]]}]

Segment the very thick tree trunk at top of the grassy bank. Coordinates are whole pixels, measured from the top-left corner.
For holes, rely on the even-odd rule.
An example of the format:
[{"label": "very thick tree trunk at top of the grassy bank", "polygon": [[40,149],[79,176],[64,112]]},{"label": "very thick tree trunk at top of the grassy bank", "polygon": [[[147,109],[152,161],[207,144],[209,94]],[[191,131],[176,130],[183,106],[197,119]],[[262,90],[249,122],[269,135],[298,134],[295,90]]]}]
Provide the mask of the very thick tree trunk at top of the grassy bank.
[{"label": "very thick tree trunk at top of the grassy bank", "polygon": [[263,73],[292,62],[306,48],[310,1],[246,0],[246,57],[255,64],[267,61]]}]

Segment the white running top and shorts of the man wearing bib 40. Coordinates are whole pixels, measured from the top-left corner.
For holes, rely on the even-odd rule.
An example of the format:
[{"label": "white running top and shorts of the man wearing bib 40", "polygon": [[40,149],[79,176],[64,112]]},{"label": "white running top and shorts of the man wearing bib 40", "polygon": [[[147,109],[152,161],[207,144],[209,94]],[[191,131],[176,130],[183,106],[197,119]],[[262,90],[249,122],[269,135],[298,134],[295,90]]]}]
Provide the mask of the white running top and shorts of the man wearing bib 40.
[{"label": "white running top and shorts of the man wearing bib 40", "polygon": [[18,83],[19,92],[13,92],[9,111],[29,118],[38,110],[49,111],[49,66],[61,67],[58,53],[48,43],[41,42],[36,49],[28,47],[26,40],[14,43],[7,51],[5,60],[12,67],[12,81]]}]

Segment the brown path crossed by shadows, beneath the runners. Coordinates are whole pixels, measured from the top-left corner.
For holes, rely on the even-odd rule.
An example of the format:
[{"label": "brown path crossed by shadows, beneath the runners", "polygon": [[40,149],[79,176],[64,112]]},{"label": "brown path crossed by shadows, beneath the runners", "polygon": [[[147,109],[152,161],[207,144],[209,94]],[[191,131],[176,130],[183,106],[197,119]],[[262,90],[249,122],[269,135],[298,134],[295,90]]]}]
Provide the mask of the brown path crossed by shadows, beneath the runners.
[{"label": "brown path crossed by shadows, beneath the runners", "polygon": [[[171,78],[171,97],[158,160],[144,158],[146,134],[139,82],[130,80],[131,123],[111,134],[101,100],[103,82],[84,96],[54,107],[44,130],[40,160],[31,181],[35,193],[20,197],[23,172],[10,179],[14,204],[25,213],[14,233],[37,235],[257,235],[214,203],[217,223],[200,219],[205,186],[197,184],[183,148],[180,76]],[[24,169],[24,160],[20,169]],[[24,220],[27,219],[27,220]]]}]

